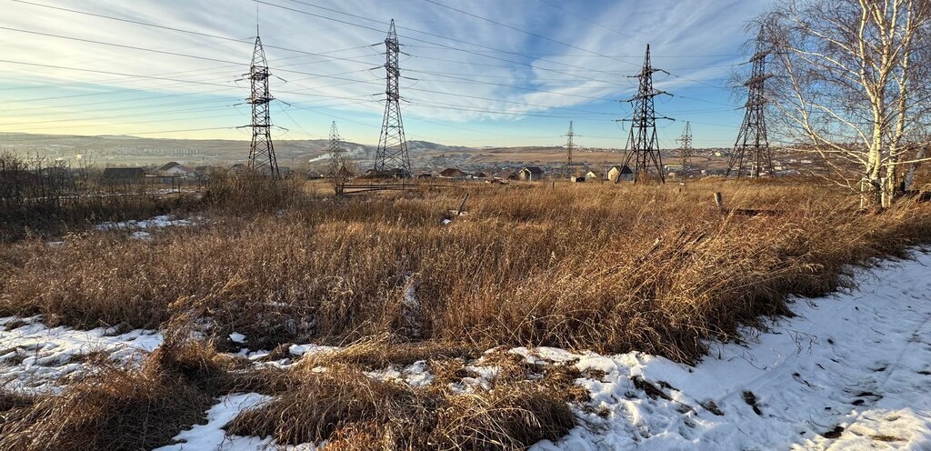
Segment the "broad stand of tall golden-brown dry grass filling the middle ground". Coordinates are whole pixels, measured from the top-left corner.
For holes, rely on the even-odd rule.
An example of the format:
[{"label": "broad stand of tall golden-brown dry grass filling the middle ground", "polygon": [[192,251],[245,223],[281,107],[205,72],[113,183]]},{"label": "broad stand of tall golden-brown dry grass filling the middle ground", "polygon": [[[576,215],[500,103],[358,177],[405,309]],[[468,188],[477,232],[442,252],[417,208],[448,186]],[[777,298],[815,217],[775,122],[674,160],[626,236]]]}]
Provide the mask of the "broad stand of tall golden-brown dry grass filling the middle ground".
[{"label": "broad stand of tall golden-brown dry grass filling the middle ground", "polygon": [[[773,212],[722,214],[714,191]],[[458,206],[456,190],[223,210],[152,242],[106,233],[55,252],[20,244],[27,256],[7,263],[0,314],[152,328],[184,312],[267,349],[390,334],[691,361],[703,340],[787,312],[789,294],[836,289],[844,265],[931,239],[927,204],[858,212],[856,199],[810,185],[469,192],[468,214],[449,226],[440,220]]]}]

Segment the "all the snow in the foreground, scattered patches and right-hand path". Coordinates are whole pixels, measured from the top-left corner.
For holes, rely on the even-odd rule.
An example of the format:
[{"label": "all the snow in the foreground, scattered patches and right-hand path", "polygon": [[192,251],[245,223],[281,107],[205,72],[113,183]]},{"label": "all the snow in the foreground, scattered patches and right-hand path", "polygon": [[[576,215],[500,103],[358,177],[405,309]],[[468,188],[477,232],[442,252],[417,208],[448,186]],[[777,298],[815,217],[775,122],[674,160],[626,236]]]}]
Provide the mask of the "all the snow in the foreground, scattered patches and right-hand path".
[{"label": "all the snow in the foreground, scattered patches and right-hand path", "polygon": [[[694,367],[639,352],[512,349],[531,361],[577,366],[587,377],[576,383],[591,393],[590,402],[573,407],[579,426],[534,451],[931,450],[931,250],[858,270],[856,280],[851,293],[794,301],[796,317],[775,321],[764,333],[745,331],[743,343],[713,344]],[[14,388],[54,390],[59,378],[81,370],[76,356],[101,350],[127,361],[161,341],[152,331],[115,335],[20,321],[0,319],[0,384]],[[295,345],[290,355],[326,349]],[[454,389],[480,390],[494,375],[480,360],[469,368],[479,376]],[[433,379],[424,362],[370,376],[415,386]],[[182,431],[179,444],[163,449],[265,449],[267,439],[224,437],[222,428],[268,399],[255,393],[220,398],[206,412],[206,425]]]}]

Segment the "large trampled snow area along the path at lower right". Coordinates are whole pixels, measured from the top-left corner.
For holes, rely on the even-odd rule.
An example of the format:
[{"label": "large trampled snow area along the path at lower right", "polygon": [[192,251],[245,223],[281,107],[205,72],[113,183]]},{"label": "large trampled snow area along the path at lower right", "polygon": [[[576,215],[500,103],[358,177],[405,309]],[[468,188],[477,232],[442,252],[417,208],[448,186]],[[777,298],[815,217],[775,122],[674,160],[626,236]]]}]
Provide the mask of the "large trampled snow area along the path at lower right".
[{"label": "large trampled snow area along the path at lower right", "polygon": [[931,253],[914,257],[857,271],[851,293],[796,300],[796,318],[695,367],[537,349],[604,376],[577,381],[592,395],[581,425],[535,450],[931,449]]}]

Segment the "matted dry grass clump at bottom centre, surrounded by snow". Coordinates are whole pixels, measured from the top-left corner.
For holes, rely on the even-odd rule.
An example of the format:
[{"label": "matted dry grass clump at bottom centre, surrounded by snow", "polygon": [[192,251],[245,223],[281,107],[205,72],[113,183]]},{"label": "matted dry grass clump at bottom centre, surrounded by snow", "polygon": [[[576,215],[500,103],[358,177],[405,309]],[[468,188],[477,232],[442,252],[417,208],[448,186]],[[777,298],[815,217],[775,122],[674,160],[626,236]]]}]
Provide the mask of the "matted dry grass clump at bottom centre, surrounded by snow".
[{"label": "matted dry grass clump at bottom centre, surrounded by snow", "polygon": [[291,390],[242,412],[227,432],[277,444],[326,440],[325,449],[334,450],[506,450],[556,440],[575,425],[568,404],[574,379],[560,371],[533,381],[502,372],[492,390],[473,392],[440,382],[413,388],[335,362],[296,371]]}]

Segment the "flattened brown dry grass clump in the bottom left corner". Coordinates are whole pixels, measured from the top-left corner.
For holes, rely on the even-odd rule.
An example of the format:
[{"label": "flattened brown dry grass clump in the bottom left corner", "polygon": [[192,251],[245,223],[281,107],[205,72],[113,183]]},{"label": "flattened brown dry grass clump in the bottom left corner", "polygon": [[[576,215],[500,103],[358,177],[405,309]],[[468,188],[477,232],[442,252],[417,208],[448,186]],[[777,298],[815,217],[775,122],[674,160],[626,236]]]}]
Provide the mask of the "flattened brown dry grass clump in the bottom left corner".
[{"label": "flattened brown dry grass clump in the bottom left corner", "polygon": [[249,369],[185,324],[166,331],[140,368],[100,361],[58,394],[0,394],[0,450],[151,449],[201,422],[216,396],[293,386],[285,370]]}]

